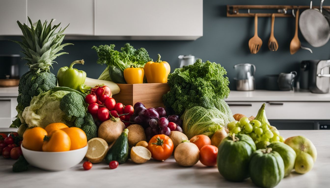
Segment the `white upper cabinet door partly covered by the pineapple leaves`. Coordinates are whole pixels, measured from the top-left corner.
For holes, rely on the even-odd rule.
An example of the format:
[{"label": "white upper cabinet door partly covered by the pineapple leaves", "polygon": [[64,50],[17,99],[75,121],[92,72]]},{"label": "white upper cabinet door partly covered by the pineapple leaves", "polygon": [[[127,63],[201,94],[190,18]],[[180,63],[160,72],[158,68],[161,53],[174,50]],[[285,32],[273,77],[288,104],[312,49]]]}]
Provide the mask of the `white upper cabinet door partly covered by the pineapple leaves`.
[{"label": "white upper cabinet door partly covered by the pineapple leaves", "polygon": [[94,34],[94,0],[27,0],[27,15],[33,22],[52,18],[67,35]]}]

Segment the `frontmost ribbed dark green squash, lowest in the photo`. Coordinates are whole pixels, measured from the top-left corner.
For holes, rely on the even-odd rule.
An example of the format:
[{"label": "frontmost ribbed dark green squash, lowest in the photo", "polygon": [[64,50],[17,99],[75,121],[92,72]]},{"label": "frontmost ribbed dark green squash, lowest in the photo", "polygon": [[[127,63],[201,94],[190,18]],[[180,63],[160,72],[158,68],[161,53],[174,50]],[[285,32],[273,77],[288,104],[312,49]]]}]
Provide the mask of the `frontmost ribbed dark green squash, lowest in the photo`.
[{"label": "frontmost ribbed dark green squash, lowest in the photo", "polygon": [[249,173],[252,182],[264,188],[275,187],[284,177],[284,162],[272,148],[258,149],[251,155]]}]

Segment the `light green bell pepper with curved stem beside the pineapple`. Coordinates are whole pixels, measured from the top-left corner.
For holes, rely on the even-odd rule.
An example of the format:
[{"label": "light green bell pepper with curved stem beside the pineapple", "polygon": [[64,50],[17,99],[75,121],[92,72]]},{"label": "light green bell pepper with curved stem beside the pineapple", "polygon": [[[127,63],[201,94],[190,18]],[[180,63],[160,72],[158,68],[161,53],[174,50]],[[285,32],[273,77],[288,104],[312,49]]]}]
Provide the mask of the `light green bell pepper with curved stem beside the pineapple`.
[{"label": "light green bell pepper with curved stem beside the pineapple", "polygon": [[86,72],[83,70],[78,70],[73,68],[75,64],[84,64],[82,60],[76,60],[71,63],[70,67],[62,67],[57,72],[58,86],[68,87],[77,91],[79,90],[80,85],[85,83]]}]

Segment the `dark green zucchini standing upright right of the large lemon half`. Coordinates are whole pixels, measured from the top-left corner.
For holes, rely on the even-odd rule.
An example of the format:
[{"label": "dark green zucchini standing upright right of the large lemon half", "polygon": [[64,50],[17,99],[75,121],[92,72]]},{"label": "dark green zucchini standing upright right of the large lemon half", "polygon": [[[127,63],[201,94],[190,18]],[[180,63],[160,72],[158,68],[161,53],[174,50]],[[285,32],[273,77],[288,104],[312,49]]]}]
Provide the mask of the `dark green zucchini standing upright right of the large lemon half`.
[{"label": "dark green zucchini standing upright right of the large lemon half", "polygon": [[124,129],[115,144],[109,149],[105,156],[105,161],[109,164],[111,161],[118,161],[119,164],[125,163],[128,159],[128,129]]}]

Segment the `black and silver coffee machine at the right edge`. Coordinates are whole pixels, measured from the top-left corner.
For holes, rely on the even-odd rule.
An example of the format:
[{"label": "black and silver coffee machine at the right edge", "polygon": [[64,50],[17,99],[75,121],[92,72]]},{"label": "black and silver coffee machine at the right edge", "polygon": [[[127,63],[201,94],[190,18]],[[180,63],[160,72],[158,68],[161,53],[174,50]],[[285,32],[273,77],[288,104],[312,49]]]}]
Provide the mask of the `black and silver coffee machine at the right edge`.
[{"label": "black and silver coffee machine at the right edge", "polygon": [[330,60],[307,60],[300,64],[300,89],[312,93],[329,93]]}]

